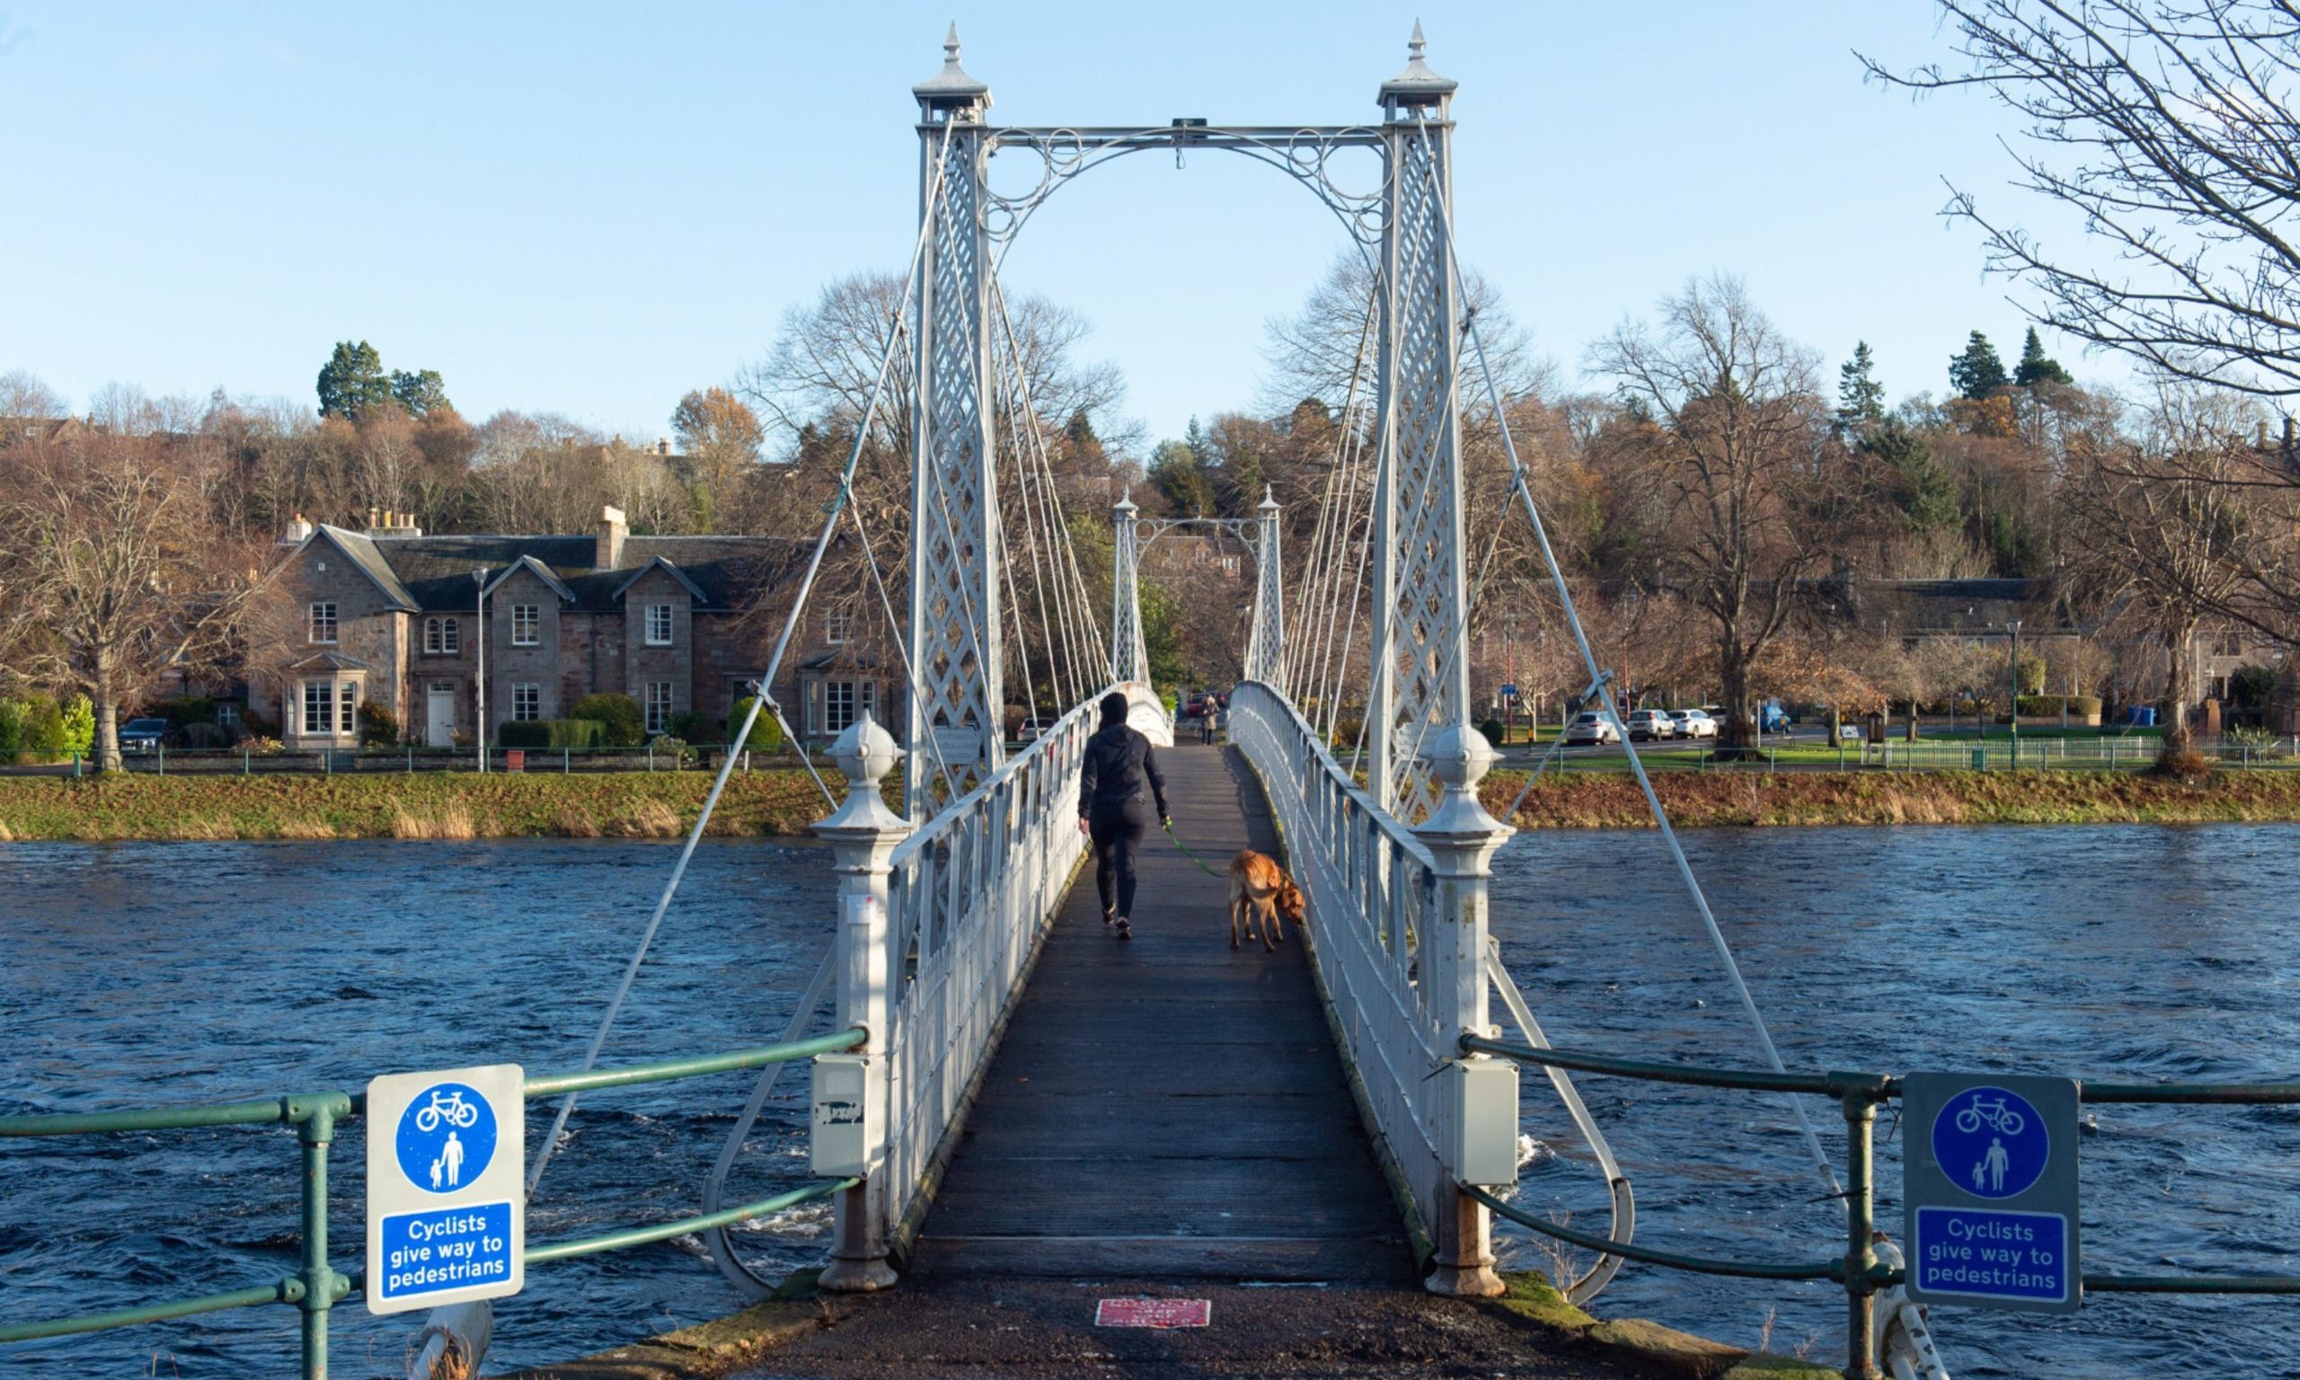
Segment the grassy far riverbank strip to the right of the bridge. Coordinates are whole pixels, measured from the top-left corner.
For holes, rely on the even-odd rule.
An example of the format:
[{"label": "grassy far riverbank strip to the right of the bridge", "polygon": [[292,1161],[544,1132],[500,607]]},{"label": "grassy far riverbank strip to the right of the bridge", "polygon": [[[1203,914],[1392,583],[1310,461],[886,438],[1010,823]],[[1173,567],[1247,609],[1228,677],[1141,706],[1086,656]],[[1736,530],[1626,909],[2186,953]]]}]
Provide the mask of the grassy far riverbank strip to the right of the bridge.
[{"label": "grassy far riverbank strip to the right of the bridge", "polygon": [[[1525,773],[1483,782],[1500,814]],[[1943,773],[1658,773],[1654,789],[1670,823],[2213,823],[2300,821],[2300,773],[2220,770],[2196,784],[2128,770],[1943,770]],[[1518,828],[1649,828],[1638,782],[1624,775],[1543,777]]]}]

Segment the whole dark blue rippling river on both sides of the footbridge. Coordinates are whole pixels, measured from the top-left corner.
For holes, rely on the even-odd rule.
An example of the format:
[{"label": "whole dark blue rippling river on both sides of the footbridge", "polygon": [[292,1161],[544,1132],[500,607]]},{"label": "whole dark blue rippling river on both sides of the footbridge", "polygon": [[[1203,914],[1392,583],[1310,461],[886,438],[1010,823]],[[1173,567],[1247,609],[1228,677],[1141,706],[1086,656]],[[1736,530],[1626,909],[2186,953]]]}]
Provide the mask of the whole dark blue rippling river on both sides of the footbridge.
[{"label": "whole dark blue rippling river on both sides of the footbridge", "polygon": [[[2300,828],[1697,833],[1686,846],[1792,1067],[1978,1067],[2088,1079],[2284,1079],[2300,1012]],[[14,844],[0,849],[0,1111],[85,1111],[350,1088],[375,1072],[573,1067],[674,851],[623,842]],[[1713,952],[1647,833],[1516,839],[1495,931],[1559,1046],[1755,1063]],[[830,931],[807,844],[697,853],[610,1044],[612,1063],[768,1042]],[[1212,920],[1210,920],[1212,925]],[[734,1198],[805,1180],[805,1079],[787,1079]],[[1819,1258],[1840,1249],[1787,1106],[1580,1081],[1638,1191],[1638,1240]],[[695,1212],[750,1074],[584,1097],[529,1217],[534,1242]],[[529,1116],[529,1141],[550,1106]],[[1518,1201],[1603,1224],[1605,1196],[1546,1083]],[[1842,1132],[1808,1104],[1835,1157]],[[239,1288],[297,1267],[297,1145],[221,1127],[0,1143],[0,1318]],[[1900,1138],[1879,1122],[1897,1235]],[[2102,1109],[2084,1141],[2086,1267],[2295,1272],[2300,1113]],[[338,1141],[338,1267],[363,1244],[361,1129]],[[828,1212],[738,1237],[761,1272],[819,1263]],[[1518,1267],[1543,1267],[1520,1233]],[[499,1304],[490,1368],[697,1322],[741,1297],[695,1240],[536,1267]],[[1631,1265],[1598,1302],[1842,1359],[1826,1286]],[[345,1375],[398,1373],[412,1318],[338,1309]],[[416,1316],[419,1318],[419,1316]],[[2102,1297],[2075,1318],[1939,1309],[1964,1375],[2300,1375],[2279,1300]],[[0,1348],[0,1371],[292,1373],[290,1309],[241,1309]]]}]

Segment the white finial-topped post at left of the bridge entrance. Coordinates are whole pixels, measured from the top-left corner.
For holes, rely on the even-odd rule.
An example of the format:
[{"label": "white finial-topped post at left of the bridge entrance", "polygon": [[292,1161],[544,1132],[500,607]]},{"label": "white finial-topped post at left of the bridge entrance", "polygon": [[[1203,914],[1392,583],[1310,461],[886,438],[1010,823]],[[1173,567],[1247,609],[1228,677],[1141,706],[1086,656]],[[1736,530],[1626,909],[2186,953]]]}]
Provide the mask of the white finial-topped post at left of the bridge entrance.
[{"label": "white finial-topped post at left of the bridge entrance", "polygon": [[[814,833],[830,842],[839,876],[837,1000],[839,1026],[865,1033],[862,1097],[881,1109],[879,1141],[865,1150],[862,1182],[837,1196],[837,1233],[830,1265],[816,1281],[833,1293],[869,1293],[895,1286],[885,1263],[888,1228],[902,1203],[902,1187],[888,1182],[885,1148],[899,1134],[888,1097],[892,991],[888,987],[888,874],[895,844],[911,837],[911,821],[885,807],[879,787],[902,750],[865,711],[830,745],[846,773],[846,800]],[[865,1118],[865,1127],[872,1120]]]}]

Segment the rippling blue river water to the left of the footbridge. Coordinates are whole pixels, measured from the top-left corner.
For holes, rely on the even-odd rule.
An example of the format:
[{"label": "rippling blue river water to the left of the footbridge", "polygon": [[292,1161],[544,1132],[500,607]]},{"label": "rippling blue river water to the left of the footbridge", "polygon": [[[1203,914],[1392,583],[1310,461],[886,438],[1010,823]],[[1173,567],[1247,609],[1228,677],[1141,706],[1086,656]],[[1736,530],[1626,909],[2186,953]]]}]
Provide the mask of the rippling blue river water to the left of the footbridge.
[{"label": "rippling blue river water to the left of the footbridge", "polygon": [[[465,1063],[582,1063],[676,849],[488,844],[16,844],[0,849],[0,1111],[354,1088]],[[766,1044],[830,934],[828,853],[706,844],[605,1063]],[[531,1242],[697,1212],[752,1074],[586,1092]],[[805,1076],[784,1076],[729,1201],[807,1182]],[[529,1104],[527,1138],[557,1102]],[[366,1251],[363,1122],[331,1159],[334,1260]],[[297,1270],[297,1138],[218,1127],[0,1141],[0,1316],[48,1318]],[[828,1205],[738,1228],[761,1274],[816,1263]],[[490,1371],[568,1359],[745,1300],[681,1237],[538,1265],[497,1304]],[[340,1375],[405,1371],[421,1313],[336,1309]],[[5,1373],[290,1375],[294,1313],[205,1313],[0,1348]],[[41,1371],[46,1362],[46,1371]],[[67,1371],[69,1366],[69,1371]]]}]

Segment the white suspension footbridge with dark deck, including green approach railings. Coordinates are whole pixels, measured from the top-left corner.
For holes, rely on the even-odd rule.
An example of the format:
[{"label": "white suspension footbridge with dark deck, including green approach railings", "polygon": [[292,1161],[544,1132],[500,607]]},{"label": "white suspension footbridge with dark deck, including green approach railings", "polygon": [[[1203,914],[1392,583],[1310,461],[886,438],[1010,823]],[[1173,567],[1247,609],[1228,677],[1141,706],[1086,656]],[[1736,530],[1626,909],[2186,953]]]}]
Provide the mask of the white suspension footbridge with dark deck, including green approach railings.
[{"label": "white suspension footbridge with dark deck, including green approach railings", "polygon": [[[745,1067],[761,1070],[759,1083],[695,1217],[529,1244],[527,1263],[695,1235],[729,1281],[766,1295],[782,1281],[754,1272],[729,1228],[830,1198],[835,1235],[816,1283],[860,1302],[851,1327],[793,1343],[791,1373],[936,1373],[927,1362],[948,1373],[1072,1362],[1099,1373],[1180,1355],[1166,1343],[1081,1350],[1090,1322],[1076,1316],[1079,1283],[1164,1295],[1187,1286],[1214,1300],[1230,1329],[1217,1327],[1198,1359],[1235,1373],[1610,1373],[1603,1362],[1543,1355],[1467,1302],[1506,1288],[1493,1256],[1495,1217],[1506,1217],[1585,1251],[1564,1290],[1573,1302],[1596,1297],[1624,1263],[1828,1281],[1845,1295],[1845,1373],[1946,1378],[1920,1309],[1902,1293],[1907,1272],[1877,1233],[1874,1118],[1900,1079],[1782,1067],[1633,750],[1663,846],[1762,1058],[1697,1070],[1550,1049],[1488,938],[1490,862],[1511,830],[1479,793],[1495,754],[1472,727],[1467,678],[1481,570],[1465,529],[1465,407],[1490,409],[1506,446],[1506,520],[1527,522],[1543,557],[1548,540],[1465,308],[1451,218],[1456,83],[1428,67],[1419,25],[1405,69],[1378,87],[1378,120],[1364,124],[996,126],[991,92],[961,64],[954,32],[943,69],[913,94],[920,225],[904,310],[773,658],[780,667],[826,552],[851,540],[869,598],[899,630],[904,697],[895,722],[862,718],[833,747],[844,789],[816,775],[826,803],[816,833],[839,888],[828,952],[789,1023],[752,1033],[777,1042],[598,1067],[702,837],[697,821],[584,1065],[527,1079],[527,1097],[561,1097],[529,1194],[580,1092]],[[1099,580],[1088,580],[1074,534],[1102,515],[1065,504],[1030,361],[998,288],[1003,255],[1046,198],[1138,152],[1224,152],[1274,168],[1336,216],[1373,283],[1297,566],[1288,573],[1295,557],[1281,550],[1274,497],[1254,518],[1224,522],[1256,566],[1224,747],[1175,745],[1173,713],[1150,685],[1141,552],[1175,520],[1143,518],[1120,497],[1109,513],[1111,593],[1106,603],[1092,593]],[[1000,156],[1026,168],[1019,186],[994,184]],[[872,531],[849,497],[874,419],[899,393],[895,377],[908,382],[908,414],[897,419],[908,513],[902,531]],[[1548,564],[1589,702],[1619,720],[1571,591]],[[1159,745],[1178,821],[1173,839],[1143,856],[1145,906],[1129,945],[1106,936],[1079,883],[1079,768],[1095,702],[1109,692],[1129,699],[1129,720]],[[1044,724],[1019,747],[1003,731],[1014,702]],[[780,720],[782,706],[761,695],[750,713]],[[747,736],[750,722],[736,741]],[[1279,856],[1306,899],[1306,927],[1270,957],[1224,943],[1226,890],[1214,872],[1247,846]],[[846,1060],[860,1079],[853,1162],[764,1201],[727,1201],[777,1074],[805,1058]],[[1628,1178],[1573,1072],[1785,1095],[1824,1194],[1824,1244],[1796,1260],[1725,1260],[1635,1242]],[[1587,1143],[1610,1203],[1601,1224],[1548,1221],[1511,1203],[1520,1095],[1536,1088]],[[2095,1086],[2086,1097],[2300,1102],[2300,1088]],[[1833,1150],[1808,1104],[1840,1132]],[[327,1164],[338,1127],[361,1111],[347,1092],[315,1092],[0,1118],[7,1136],[285,1125],[306,1175],[292,1274],[113,1313],[0,1318],[0,1343],[285,1304],[301,1313],[304,1373],[324,1375],[329,1311],[363,1288],[334,1265]],[[1283,1283],[1334,1293],[1251,1293]],[[2300,1290],[2279,1276],[2082,1283]],[[1313,1297],[1327,1302],[1304,1302]],[[1026,1346],[959,1341],[984,1309],[1010,1304]],[[485,1304],[444,1309],[412,1348],[414,1373],[476,1366],[490,1327]],[[1336,1329],[1348,1339],[1334,1341]],[[1288,1350],[1309,1332],[1325,1336],[1325,1350]]]}]

